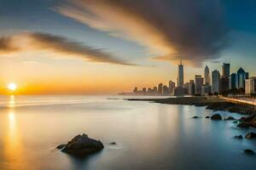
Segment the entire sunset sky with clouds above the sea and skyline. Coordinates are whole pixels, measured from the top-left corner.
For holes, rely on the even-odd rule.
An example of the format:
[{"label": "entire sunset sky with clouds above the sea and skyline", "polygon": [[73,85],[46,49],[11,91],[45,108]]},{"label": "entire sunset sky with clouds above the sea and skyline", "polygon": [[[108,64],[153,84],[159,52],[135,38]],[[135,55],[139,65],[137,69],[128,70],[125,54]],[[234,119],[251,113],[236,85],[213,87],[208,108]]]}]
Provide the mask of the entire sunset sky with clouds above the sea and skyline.
[{"label": "entire sunset sky with clouds above the sea and skyline", "polygon": [[254,0],[0,0],[0,94],[117,94],[205,65],[256,76]]}]

